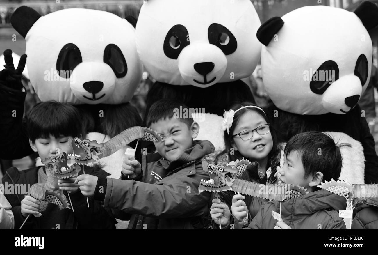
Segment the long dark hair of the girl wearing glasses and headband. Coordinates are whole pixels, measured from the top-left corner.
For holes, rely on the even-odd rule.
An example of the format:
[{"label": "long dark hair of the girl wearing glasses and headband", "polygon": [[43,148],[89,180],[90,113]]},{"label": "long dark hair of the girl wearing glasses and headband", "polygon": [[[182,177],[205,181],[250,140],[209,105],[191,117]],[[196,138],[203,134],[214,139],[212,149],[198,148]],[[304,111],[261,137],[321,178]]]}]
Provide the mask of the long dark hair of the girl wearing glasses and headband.
[{"label": "long dark hair of the girl wearing glasses and headband", "polygon": [[[240,109],[243,106],[257,106],[257,105],[254,104],[254,103],[252,103],[252,102],[246,101],[246,102],[243,102],[243,103],[234,104],[229,110],[236,111],[237,109]],[[259,107],[259,106],[257,106],[257,107]],[[223,155],[223,154],[225,154],[226,152],[228,154],[228,157],[229,157],[230,161],[235,161],[237,159],[241,160],[243,158],[242,154],[240,154],[239,151],[233,151],[234,153],[231,154],[232,139],[233,139],[232,138],[232,134],[234,132],[235,127],[239,123],[240,117],[242,117],[242,115],[245,112],[249,111],[249,110],[250,111],[255,111],[255,112],[259,113],[264,118],[264,120],[266,121],[266,123],[268,123],[268,124],[270,123],[270,118],[267,117],[261,110],[255,108],[255,107],[244,108],[244,109],[239,110],[238,112],[236,112],[235,115],[234,115],[234,120],[232,121],[232,126],[230,127],[229,134],[227,134],[227,131],[223,132],[223,140],[225,142],[225,150],[222,151],[221,154],[219,154],[217,156],[217,158],[216,158],[217,161],[219,161],[220,156]],[[273,147],[272,147],[272,150],[268,154],[268,163],[269,163],[269,159],[274,155],[274,153],[276,151],[276,147],[277,147],[277,134],[276,134],[276,130],[272,126],[270,126],[269,129],[270,129],[270,133],[272,135]]]}]

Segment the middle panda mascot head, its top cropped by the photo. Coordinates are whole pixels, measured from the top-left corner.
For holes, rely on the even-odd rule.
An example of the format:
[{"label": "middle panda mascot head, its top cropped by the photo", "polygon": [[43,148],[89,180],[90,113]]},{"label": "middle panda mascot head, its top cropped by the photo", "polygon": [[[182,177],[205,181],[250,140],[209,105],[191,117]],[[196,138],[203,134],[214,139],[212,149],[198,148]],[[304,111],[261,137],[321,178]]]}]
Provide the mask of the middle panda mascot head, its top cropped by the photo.
[{"label": "middle panda mascot head, its top cropped by the photo", "polygon": [[147,0],[136,44],[157,81],[209,87],[252,74],[261,52],[260,25],[249,0]]}]

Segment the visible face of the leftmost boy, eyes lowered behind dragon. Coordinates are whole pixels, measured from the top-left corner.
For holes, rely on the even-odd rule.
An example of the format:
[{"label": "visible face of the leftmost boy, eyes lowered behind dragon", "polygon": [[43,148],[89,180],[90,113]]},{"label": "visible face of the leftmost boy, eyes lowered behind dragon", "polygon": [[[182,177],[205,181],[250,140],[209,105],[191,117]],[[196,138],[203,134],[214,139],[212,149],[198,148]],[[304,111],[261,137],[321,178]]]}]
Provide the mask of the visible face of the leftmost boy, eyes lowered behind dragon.
[{"label": "visible face of the leftmost boy, eyes lowered behind dragon", "polygon": [[72,139],[73,137],[71,136],[54,137],[50,135],[49,138],[38,138],[34,143],[29,140],[29,143],[33,151],[38,152],[39,157],[45,160],[46,158],[55,156],[57,151],[58,154],[62,152],[66,152],[67,154],[72,153],[70,143]]}]

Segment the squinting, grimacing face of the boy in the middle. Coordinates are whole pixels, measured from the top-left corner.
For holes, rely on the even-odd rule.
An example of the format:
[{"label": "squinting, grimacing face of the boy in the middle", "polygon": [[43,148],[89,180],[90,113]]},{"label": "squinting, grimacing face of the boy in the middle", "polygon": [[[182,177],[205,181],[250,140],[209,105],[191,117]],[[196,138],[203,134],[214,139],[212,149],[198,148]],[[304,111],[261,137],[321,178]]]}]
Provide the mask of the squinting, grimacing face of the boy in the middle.
[{"label": "squinting, grimacing face of the boy in the middle", "polygon": [[199,126],[193,122],[191,128],[177,118],[164,118],[150,125],[164,141],[154,142],[159,154],[169,162],[177,160],[186,149],[192,147],[192,139],[196,138]]}]

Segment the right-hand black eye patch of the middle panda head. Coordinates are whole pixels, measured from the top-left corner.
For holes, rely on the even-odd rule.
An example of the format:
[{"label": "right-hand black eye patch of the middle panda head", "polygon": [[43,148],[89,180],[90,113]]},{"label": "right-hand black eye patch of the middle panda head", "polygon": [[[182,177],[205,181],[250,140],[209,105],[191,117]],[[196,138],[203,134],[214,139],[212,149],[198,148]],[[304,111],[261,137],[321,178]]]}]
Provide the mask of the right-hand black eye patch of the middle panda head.
[{"label": "right-hand black eye patch of the middle panda head", "polygon": [[225,26],[212,23],[208,30],[209,43],[220,48],[225,55],[232,54],[237,49],[235,36]]}]

